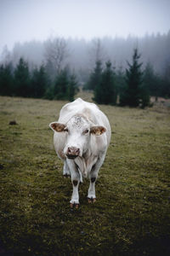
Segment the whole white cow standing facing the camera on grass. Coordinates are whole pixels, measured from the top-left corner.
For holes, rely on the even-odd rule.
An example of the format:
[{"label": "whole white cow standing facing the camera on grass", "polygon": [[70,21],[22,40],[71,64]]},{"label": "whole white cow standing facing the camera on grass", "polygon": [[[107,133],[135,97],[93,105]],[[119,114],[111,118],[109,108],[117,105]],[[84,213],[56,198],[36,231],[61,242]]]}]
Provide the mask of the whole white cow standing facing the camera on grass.
[{"label": "whole white cow standing facing the camera on grass", "polygon": [[54,131],[55,151],[64,161],[63,175],[71,177],[71,207],[79,206],[82,177],[90,180],[88,202],[95,202],[95,182],[111,141],[111,125],[105,113],[94,103],[77,98],[61,108],[59,120],[49,127]]}]

